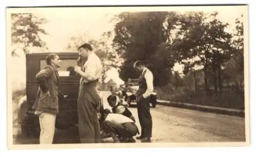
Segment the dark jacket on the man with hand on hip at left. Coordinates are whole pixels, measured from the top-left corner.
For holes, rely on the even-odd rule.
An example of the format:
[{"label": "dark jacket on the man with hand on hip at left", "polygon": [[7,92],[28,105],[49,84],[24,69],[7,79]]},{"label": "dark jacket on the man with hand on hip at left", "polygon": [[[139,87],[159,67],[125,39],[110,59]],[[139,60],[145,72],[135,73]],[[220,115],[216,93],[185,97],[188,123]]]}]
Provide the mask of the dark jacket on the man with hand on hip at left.
[{"label": "dark jacket on the man with hand on hip at left", "polygon": [[59,97],[63,98],[63,95],[58,89],[59,75],[57,69],[53,66],[46,66],[36,74],[36,79],[39,87],[32,108],[34,110],[57,114],[59,112],[58,99]]}]

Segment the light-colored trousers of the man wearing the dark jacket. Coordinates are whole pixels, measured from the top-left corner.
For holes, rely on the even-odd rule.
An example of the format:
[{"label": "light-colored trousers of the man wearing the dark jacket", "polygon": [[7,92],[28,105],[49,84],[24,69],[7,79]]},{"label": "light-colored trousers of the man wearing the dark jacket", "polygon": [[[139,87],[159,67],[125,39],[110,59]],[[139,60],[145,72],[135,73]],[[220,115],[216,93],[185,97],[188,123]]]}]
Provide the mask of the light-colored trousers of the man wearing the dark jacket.
[{"label": "light-colored trousers of the man wearing the dark jacket", "polygon": [[56,114],[41,113],[39,115],[40,123],[40,144],[52,144],[55,133]]}]

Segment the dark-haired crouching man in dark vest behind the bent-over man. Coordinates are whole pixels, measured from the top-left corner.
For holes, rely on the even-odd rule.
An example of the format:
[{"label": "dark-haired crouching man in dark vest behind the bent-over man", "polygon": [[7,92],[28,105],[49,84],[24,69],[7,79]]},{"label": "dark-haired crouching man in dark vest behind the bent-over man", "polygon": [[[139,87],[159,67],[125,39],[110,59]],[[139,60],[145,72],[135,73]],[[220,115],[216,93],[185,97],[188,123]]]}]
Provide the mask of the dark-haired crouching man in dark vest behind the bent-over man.
[{"label": "dark-haired crouching man in dark vest behind the bent-over man", "polygon": [[122,115],[132,119],[135,122],[135,118],[134,118],[132,112],[119,101],[118,96],[110,95],[107,98],[107,100],[109,102],[109,105],[112,108],[113,113],[122,114]]}]

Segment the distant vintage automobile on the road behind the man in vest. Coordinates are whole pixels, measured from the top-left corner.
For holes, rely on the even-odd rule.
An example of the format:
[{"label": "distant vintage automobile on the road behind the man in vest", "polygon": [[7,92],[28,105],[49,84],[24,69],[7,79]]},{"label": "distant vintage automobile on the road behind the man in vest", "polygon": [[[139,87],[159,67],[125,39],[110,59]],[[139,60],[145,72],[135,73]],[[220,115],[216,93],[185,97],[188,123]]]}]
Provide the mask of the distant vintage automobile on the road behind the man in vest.
[{"label": "distant vintage automobile on the road behind the man in vest", "polygon": [[[136,104],[136,91],[138,90],[138,79],[128,79],[125,85],[121,86],[121,90],[118,95],[119,98],[125,101],[126,105],[129,107],[132,104]],[[150,96],[150,105],[155,108],[157,105],[157,93],[153,92]]]}]

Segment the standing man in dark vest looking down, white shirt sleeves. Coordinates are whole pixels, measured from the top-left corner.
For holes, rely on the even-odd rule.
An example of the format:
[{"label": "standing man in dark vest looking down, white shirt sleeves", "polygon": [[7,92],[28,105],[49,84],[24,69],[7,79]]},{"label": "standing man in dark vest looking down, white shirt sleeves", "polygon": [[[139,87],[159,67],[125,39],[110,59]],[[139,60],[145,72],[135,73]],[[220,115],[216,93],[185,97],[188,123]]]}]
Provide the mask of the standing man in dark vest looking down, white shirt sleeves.
[{"label": "standing man in dark vest looking down, white shirt sleeves", "polygon": [[139,77],[139,89],[136,93],[141,136],[137,137],[137,139],[141,139],[141,142],[151,142],[152,117],[150,114],[150,95],[154,90],[153,74],[141,61],[136,61],[133,67],[141,73]]}]

